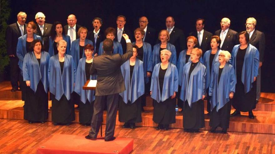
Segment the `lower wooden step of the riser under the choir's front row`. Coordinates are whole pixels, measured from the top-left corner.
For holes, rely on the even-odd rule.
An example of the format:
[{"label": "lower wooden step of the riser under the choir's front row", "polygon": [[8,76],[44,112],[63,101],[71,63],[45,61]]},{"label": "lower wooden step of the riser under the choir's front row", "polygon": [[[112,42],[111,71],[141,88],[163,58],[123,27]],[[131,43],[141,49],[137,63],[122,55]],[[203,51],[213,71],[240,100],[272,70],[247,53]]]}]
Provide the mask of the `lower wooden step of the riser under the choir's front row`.
[{"label": "lower wooden step of the riser under the choir's front row", "polygon": [[[0,118],[1,119],[18,119],[23,120],[24,101],[15,100],[10,98],[0,99]],[[49,101],[49,107],[51,106],[51,101]],[[156,127],[157,124],[153,122],[153,107],[144,107],[145,112],[142,113],[142,123],[137,123],[137,126],[143,127]],[[231,113],[234,110],[231,110]],[[205,130],[209,130],[209,116],[206,114],[205,110]],[[242,113],[242,116],[230,118],[230,124],[228,131],[232,132],[247,132],[247,133],[270,133],[275,134],[275,112],[271,111],[254,111],[255,119],[249,119],[248,113]],[[79,111],[75,109],[75,123],[79,122],[78,119]],[[49,110],[48,121],[52,119],[52,111]],[[103,114],[103,124],[106,124],[106,111]],[[117,114],[117,125],[123,125],[123,123],[118,121]],[[183,116],[180,113],[176,116],[176,123],[171,124],[170,128],[183,128]]]}]

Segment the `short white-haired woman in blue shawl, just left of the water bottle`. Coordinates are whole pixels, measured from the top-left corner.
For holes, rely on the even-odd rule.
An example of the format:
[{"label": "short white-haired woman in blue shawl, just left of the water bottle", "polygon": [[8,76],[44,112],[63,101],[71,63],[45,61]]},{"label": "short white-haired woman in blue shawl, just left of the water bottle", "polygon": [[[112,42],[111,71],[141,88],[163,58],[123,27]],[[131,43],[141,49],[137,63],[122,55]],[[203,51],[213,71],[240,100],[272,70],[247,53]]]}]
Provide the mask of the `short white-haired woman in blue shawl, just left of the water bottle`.
[{"label": "short white-haired woman in blue shawl, just left of the water bottle", "polygon": [[176,92],[178,91],[178,69],[169,62],[171,52],[162,50],[161,63],[152,73],[151,97],[153,98],[153,121],[158,124],[157,130],[168,130],[169,124],[176,122]]}]

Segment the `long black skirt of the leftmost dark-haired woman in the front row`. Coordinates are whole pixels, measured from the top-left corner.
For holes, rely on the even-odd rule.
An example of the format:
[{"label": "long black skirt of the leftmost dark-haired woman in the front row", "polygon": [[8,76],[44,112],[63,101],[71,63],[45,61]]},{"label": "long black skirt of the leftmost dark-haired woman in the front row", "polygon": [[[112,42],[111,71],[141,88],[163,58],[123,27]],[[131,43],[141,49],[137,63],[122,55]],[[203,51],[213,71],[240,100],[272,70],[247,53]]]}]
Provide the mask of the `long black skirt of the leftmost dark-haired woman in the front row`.
[{"label": "long black skirt of the leftmost dark-haired woman in the front row", "polygon": [[42,122],[48,119],[48,95],[41,81],[37,85],[36,92],[29,86],[26,87],[24,119]]}]

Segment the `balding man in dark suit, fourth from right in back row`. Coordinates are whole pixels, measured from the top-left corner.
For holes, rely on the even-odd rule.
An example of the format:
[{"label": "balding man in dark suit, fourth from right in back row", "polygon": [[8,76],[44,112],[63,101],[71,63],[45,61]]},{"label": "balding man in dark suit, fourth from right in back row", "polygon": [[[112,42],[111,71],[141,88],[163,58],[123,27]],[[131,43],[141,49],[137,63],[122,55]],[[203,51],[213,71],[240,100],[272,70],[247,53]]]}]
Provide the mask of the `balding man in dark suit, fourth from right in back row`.
[{"label": "balding man in dark suit, fourth from right in back row", "polygon": [[168,16],[166,18],[166,28],[170,34],[170,43],[173,44],[176,47],[177,57],[179,56],[179,53],[186,49],[186,41],[185,41],[185,35],[183,33],[183,30],[178,29],[175,27],[175,21],[172,16]]}]

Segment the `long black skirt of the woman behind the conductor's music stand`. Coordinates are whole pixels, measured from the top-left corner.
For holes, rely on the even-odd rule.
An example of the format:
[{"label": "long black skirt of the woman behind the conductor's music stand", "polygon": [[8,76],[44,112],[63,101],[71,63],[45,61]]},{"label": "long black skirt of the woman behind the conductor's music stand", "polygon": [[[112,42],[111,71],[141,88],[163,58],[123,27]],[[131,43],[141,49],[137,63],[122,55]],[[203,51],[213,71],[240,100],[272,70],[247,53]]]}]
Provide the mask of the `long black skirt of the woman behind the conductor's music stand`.
[{"label": "long black skirt of the woman behind the conductor's music stand", "polygon": [[88,99],[85,104],[82,101],[80,101],[79,122],[81,124],[91,124],[92,117],[93,117],[93,104],[94,104],[94,101],[90,103]]}]

